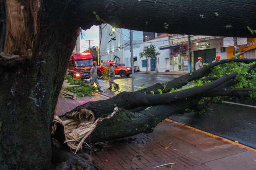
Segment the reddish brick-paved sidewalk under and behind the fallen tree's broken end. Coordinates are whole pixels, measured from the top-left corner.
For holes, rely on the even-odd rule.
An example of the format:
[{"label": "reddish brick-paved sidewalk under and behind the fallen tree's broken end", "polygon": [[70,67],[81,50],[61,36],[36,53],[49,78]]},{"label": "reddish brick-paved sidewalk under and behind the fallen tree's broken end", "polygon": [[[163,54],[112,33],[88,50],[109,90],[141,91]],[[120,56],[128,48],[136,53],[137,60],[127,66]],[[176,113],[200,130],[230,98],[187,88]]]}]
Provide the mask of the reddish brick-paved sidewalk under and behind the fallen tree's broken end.
[{"label": "reddish brick-paved sidewalk under and behind the fallen tree's broken end", "polygon": [[[61,98],[57,113],[106,99],[99,94],[77,101]],[[163,121],[152,133],[104,143],[102,149],[91,155],[103,170],[255,170],[256,152],[237,145],[179,123]],[[154,168],[173,162],[176,164]]]}]

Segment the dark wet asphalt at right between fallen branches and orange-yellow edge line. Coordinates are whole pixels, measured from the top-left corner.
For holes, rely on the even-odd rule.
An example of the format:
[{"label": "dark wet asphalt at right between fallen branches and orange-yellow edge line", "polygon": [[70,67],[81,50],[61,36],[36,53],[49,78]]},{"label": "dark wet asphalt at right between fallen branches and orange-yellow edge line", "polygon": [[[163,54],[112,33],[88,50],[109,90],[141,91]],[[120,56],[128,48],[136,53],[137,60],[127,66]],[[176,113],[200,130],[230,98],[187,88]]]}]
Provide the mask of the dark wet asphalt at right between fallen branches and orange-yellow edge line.
[{"label": "dark wet asphalt at right between fallen branches and orange-yellow edge line", "polygon": [[256,100],[237,99],[228,102],[236,104],[214,103],[209,105],[205,113],[176,114],[170,119],[256,149]]}]

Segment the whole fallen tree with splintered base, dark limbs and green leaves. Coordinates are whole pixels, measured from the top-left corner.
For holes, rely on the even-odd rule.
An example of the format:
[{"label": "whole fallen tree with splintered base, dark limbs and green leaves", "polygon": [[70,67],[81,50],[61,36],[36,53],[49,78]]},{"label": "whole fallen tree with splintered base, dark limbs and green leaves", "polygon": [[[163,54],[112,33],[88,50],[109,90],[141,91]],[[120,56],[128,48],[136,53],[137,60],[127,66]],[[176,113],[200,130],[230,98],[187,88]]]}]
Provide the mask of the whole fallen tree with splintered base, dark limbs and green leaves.
[{"label": "whole fallen tree with splintered base, dark limbs and green leaves", "polygon": [[[186,108],[200,111],[212,100],[210,98],[199,104],[202,98],[249,97],[250,94],[255,94],[256,90],[256,78],[250,77],[251,74],[255,74],[255,61],[256,59],[222,60],[164,84],[157,84],[137,92],[121,92],[108,100],[88,102],[54,118],[57,123],[57,138],[77,151],[82,149],[84,143],[115,140],[142,132],[148,133],[168,116],[176,112],[182,113]],[[250,62],[252,64],[249,64]],[[214,76],[216,74],[214,67],[225,63],[229,66],[233,65],[234,68],[231,70],[234,71],[230,72],[230,68],[223,69],[222,76],[213,78],[212,81],[203,77]],[[244,81],[244,79],[239,79],[241,76],[248,80],[246,83],[243,82],[242,88],[237,88],[236,85]],[[201,86],[180,89],[193,80],[206,80],[207,82]],[[249,83],[250,88],[247,86]],[[176,90],[170,92],[171,88],[176,88]],[[154,94],[154,91],[162,93]],[[152,94],[147,94],[147,92]],[[147,107],[149,108],[145,109]]]}]

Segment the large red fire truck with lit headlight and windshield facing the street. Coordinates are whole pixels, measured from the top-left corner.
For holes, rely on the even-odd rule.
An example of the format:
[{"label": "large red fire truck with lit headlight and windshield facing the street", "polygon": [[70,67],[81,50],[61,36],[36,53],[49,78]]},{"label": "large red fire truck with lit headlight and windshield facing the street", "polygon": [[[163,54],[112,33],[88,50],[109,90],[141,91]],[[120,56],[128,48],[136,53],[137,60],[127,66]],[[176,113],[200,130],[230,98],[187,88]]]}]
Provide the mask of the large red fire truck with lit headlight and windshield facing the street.
[{"label": "large red fire truck with lit headlight and windshield facing the street", "polygon": [[72,54],[68,69],[69,74],[74,78],[87,79],[90,78],[90,69],[92,67],[92,53],[90,51],[84,51],[83,53]]}]

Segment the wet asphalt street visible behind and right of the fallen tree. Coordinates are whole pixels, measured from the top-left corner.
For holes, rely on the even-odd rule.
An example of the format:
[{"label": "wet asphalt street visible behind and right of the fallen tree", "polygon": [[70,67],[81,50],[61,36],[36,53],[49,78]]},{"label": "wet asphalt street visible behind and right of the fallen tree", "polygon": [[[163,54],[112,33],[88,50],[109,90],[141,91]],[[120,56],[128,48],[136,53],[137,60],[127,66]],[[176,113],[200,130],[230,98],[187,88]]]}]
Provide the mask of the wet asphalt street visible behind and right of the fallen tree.
[{"label": "wet asphalt street visible behind and right of the fallen tree", "polygon": [[[164,83],[178,77],[177,75],[135,74],[135,90],[152,86],[154,83]],[[122,91],[132,90],[132,77],[116,76],[120,90],[110,92],[108,82],[99,80],[103,95],[114,96]],[[230,139],[256,148],[256,100],[237,99],[209,105],[205,113],[184,113],[170,116],[170,119],[191,127]]]}]

